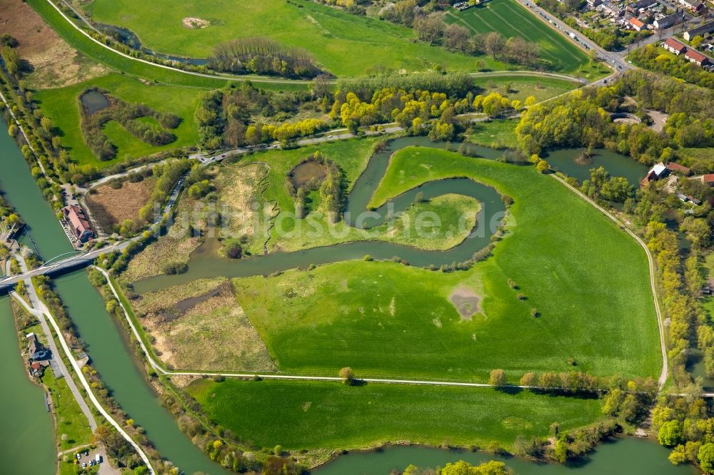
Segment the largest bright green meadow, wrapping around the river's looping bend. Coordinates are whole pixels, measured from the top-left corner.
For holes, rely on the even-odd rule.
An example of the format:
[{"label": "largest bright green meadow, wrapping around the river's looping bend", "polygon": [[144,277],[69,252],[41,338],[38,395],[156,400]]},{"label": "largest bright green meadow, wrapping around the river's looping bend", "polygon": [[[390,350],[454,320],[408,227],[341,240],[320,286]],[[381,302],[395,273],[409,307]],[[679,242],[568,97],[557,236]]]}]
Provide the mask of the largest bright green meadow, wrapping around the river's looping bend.
[{"label": "largest bright green meadow, wrapping around the river's looping bend", "polygon": [[[648,267],[636,242],[533,168],[420,151],[421,166],[412,149],[393,155],[373,205],[428,180],[468,176],[513,197],[513,235],[466,272],[351,261],[235,280],[279,369],[478,381],[499,367],[513,379],[526,371],[657,374]],[[461,320],[449,300],[458,287],[481,298],[473,320]]]}]

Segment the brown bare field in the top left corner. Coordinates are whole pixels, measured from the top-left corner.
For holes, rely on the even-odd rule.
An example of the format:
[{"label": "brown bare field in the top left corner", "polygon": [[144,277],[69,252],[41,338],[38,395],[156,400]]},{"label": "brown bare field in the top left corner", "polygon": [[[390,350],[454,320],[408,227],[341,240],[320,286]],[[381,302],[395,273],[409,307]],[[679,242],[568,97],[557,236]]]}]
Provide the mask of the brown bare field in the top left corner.
[{"label": "brown bare field in the top left corner", "polygon": [[109,72],[66,44],[21,0],[0,1],[0,31],[19,42],[17,52],[29,63],[27,81],[33,88],[69,86]]}]

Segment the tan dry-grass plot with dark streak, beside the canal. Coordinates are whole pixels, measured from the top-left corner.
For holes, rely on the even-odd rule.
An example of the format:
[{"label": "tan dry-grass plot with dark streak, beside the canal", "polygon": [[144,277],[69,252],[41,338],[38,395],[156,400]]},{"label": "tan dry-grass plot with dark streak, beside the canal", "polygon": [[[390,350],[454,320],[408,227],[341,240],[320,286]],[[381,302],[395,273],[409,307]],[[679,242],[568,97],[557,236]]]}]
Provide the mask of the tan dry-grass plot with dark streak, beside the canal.
[{"label": "tan dry-grass plot with dark streak, beside the canal", "polygon": [[172,367],[275,369],[263,340],[236,302],[233,285],[225,278],[196,280],[144,295],[136,309],[155,338],[161,360]]}]

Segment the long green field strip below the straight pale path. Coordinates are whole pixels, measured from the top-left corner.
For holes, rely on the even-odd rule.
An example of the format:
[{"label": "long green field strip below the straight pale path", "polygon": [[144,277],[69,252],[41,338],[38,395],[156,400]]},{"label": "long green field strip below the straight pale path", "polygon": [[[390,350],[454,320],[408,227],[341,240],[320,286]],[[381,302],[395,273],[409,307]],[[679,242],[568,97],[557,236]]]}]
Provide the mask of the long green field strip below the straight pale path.
[{"label": "long green field strip below the straight pale path", "polygon": [[546,436],[601,417],[597,399],[549,397],[493,389],[322,382],[215,383],[188,387],[222,427],[259,446],[353,449],[386,441],[510,447],[516,436]]}]

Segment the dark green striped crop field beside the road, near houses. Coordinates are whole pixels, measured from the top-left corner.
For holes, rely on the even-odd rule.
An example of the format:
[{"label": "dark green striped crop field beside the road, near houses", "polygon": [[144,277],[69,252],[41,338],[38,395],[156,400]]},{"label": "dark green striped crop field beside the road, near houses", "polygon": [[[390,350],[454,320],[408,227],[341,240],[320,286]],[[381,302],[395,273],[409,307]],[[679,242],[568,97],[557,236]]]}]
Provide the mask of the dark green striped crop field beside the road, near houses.
[{"label": "dark green striped crop field beside the road, near houses", "polygon": [[505,38],[521,36],[540,46],[540,57],[555,71],[580,73],[585,77],[595,70],[584,51],[565,39],[558,31],[545,25],[515,0],[492,0],[461,12],[450,11],[447,21],[466,26],[473,34],[497,31]]}]

